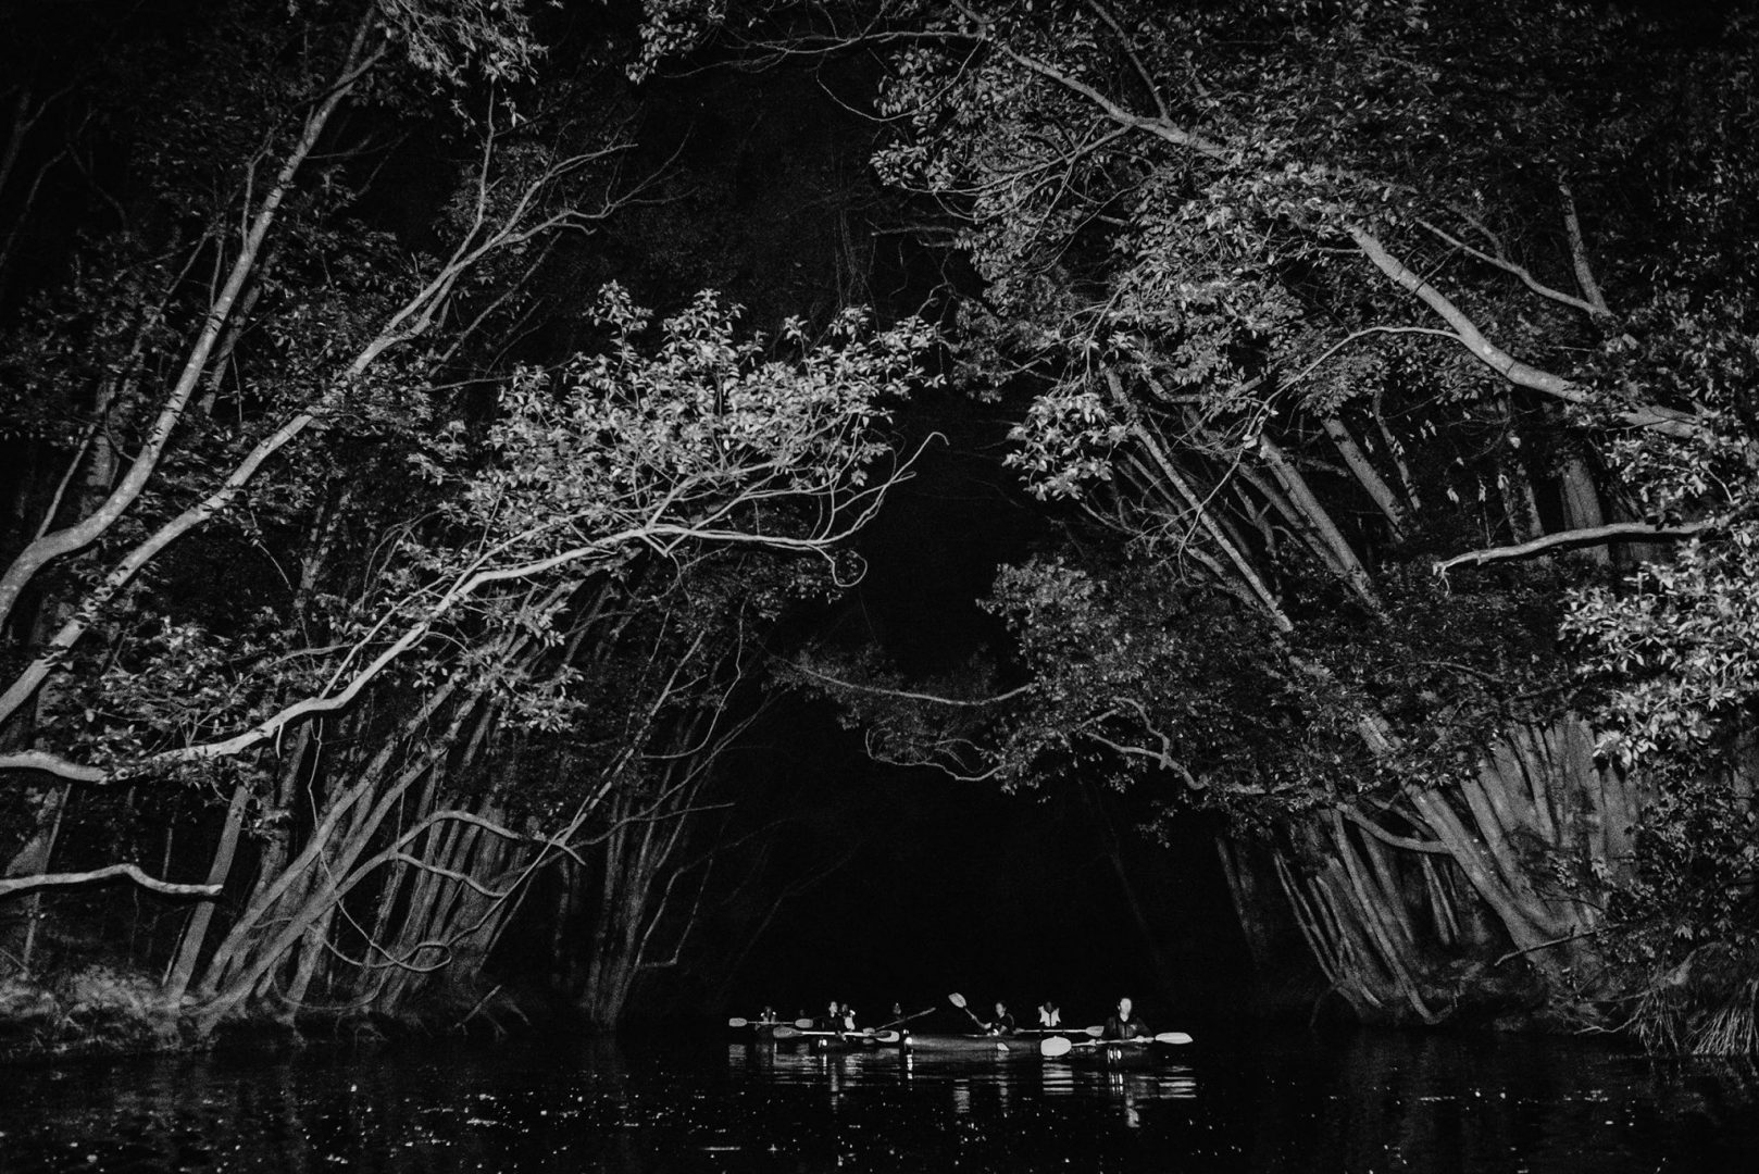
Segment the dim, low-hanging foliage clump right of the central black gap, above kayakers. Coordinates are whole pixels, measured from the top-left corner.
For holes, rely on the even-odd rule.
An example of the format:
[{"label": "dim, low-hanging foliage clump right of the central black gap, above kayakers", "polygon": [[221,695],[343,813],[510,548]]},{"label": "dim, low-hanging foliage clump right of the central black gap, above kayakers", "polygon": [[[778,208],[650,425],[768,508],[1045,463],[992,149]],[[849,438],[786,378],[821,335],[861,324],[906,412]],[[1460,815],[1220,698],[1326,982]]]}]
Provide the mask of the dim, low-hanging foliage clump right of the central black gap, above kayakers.
[{"label": "dim, low-hanging foliage clump right of the central black gap, above kayakers", "polygon": [[997,741],[1011,785],[1149,785],[1242,817],[1323,801],[1328,780],[1296,762],[1300,674],[1226,597],[1147,560],[1048,560],[1004,569],[989,607],[1033,674]]}]

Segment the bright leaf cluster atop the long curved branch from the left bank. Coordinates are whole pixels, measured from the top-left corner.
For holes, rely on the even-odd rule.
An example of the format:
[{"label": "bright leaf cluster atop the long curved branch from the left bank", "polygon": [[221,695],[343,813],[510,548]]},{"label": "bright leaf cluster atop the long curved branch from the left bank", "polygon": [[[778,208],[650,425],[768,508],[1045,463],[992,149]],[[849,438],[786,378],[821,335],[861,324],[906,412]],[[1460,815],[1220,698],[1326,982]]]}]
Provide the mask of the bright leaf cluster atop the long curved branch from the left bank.
[{"label": "bright leaf cluster atop the long curved branch from the left bank", "polygon": [[496,465],[459,505],[533,551],[661,525],[714,532],[742,507],[850,503],[934,338],[920,320],[871,333],[850,310],[823,345],[790,326],[799,357],[767,357],[739,336],[735,308],[702,294],[649,350],[649,313],[617,287],[595,322],[610,333],[603,352],[514,380],[487,438]]}]

